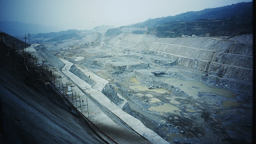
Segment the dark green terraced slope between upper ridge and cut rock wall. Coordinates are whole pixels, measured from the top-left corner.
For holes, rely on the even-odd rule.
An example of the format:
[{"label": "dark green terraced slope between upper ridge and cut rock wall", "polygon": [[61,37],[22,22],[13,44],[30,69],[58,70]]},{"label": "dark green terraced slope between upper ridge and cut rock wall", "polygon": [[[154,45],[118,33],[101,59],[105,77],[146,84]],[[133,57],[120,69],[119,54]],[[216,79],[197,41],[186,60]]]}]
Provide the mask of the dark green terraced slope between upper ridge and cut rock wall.
[{"label": "dark green terraced slope between upper ridge and cut rock wall", "polygon": [[233,17],[227,19],[200,19],[162,24],[149,29],[147,34],[160,38],[181,37],[181,35],[196,35],[200,37],[236,36],[252,33],[252,19]]}]

